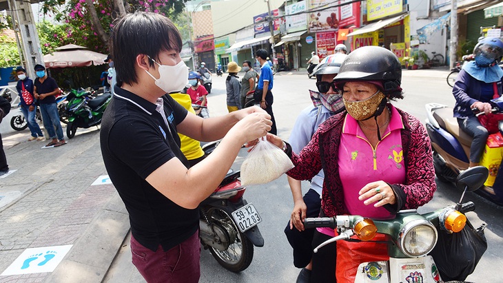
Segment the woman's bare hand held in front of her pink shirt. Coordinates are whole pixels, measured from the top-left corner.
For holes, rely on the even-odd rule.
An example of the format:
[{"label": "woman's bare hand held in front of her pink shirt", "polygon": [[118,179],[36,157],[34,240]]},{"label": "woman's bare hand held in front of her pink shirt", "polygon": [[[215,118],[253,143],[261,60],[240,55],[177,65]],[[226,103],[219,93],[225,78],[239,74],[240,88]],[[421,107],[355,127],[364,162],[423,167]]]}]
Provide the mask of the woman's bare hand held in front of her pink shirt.
[{"label": "woman's bare hand held in front of her pink shirt", "polygon": [[369,182],[360,189],[358,194],[360,195],[358,200],[364,200],[365,205],[375,202],[374,207],[382,207],[383,205],[394,205],[396,203],[393,189],[384,181]]}]

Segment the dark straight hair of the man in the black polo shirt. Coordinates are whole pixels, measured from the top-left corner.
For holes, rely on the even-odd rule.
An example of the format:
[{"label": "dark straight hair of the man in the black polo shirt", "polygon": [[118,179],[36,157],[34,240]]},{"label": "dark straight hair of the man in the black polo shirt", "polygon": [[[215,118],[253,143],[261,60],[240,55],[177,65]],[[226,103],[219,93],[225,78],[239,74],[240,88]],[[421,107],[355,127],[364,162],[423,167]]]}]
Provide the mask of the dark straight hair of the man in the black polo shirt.
[{"label": "dark straight hair of the man in the black polo shirt", "polygon": [[[136,56],[146,54],[158,62],[159,53],[182,50],[182,38],[175,25],[161,14],[134,12],[115,24],[110,36],[117,82],[138,83]],[[150,60],[150,65],[154,62]]]}]

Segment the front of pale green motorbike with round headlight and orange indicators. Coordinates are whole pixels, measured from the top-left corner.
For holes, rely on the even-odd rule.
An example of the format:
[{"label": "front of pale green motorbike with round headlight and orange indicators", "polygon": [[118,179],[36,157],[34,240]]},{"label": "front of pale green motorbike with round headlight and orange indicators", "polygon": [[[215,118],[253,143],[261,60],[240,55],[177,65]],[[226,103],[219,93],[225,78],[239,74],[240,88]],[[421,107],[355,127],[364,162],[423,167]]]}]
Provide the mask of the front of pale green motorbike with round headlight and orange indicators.
[{"label": "front of pale green motorbike with round headlight and orange indicators", "polygon": [[[318,249],[331,242],[349,240],[353,235],[358,238],[351,238],[353,239],[351,242],[356,242],[354,244],[362,241],[377,242],[373,239],[380,234],[385,239],[380,243],[387,244],[389,260],[379,257],[376,261],[362,262],[358,266],[354,282],[443,282],[436,265],[440,262],[435,264],[429,253],[435,248],[439,233],[462,231],[468,222],[464,213],[475,210],[473,202],[462,203],[464,194],[480,187],[487,175],[487,169],[481,166],[464,171],[456,180],[456,187],[463,191],[460,201],[456,205],[448,205],[429,213],[420,214],[416,209],[407,209],[398,211],[396,218],[391,220],[373,220],[348,215],[306,218],[306,228],[330,227],[338,232],[336,237],[320,244],[314,252],[318,252]],[[484,227],[482,224],[480,228],[482,232]]]}]

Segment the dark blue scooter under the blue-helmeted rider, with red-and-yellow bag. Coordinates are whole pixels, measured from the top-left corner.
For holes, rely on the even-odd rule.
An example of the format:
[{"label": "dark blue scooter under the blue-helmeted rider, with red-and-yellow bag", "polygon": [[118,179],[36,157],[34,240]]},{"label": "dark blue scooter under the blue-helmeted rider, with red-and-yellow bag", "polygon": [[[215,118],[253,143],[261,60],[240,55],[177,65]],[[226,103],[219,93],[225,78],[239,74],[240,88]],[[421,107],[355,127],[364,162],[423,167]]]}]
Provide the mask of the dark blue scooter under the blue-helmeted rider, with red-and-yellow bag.
[{"label": "dark blue scooter under the blue-helmeted rider, with red-and-yellow bag", "polygon": [[[503,101],[497,99],[493,100],[493,103],[495,112],[502,113]],[[426,127],[433,147],[435,174],[439,180],[453,182],[460,171],[469,167],[470,146],[473,138],[460,129],[458,121],[453,117],[452,107],[438,103],[428,103],[425,107],[427,110]],[[503,133],[503,125],[500,125],[500,133]],[[486,147],[489,149],[494,147],[494,149],[491,149],[491,152],[486,150],[482,154],[480,165],[489,169],[489,178],[477,193],[498,205],[503,205],[503,189],[493,187],[502,161],[500,154],[502,147],[493,145],[493,143],[498,145],[500,141],[503,144],[503,140],[499,139],[497,136],[488,138]]]}]

